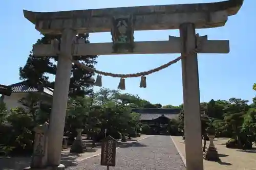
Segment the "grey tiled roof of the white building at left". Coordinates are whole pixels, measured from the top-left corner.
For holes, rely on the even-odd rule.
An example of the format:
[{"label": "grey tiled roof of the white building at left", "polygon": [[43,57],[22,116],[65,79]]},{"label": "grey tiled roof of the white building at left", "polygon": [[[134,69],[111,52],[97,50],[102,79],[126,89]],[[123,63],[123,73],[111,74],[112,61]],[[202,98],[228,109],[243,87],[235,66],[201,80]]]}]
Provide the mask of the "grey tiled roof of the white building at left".
[{"label": "grey tiled roof of the white building at left", "polygon": [[43,87],[42,90],[38,90],[35,87],[29,87],[25,85],[25,82],[19,82],[10,85],[12,92],[44,92],[49,95],[53,95],[53,89],[50,87]]}]

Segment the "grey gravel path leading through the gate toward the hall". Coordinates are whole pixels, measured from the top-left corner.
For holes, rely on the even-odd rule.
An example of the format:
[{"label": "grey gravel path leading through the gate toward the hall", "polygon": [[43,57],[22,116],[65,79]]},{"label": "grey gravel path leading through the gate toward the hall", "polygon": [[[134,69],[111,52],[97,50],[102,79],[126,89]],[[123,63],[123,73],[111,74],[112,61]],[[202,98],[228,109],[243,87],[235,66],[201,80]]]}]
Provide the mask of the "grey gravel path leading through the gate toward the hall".
[{"label": "grey gravel path leading through the gate toward the hall", "polygon": [[[79,162],[69,170],[105,170],[100,166],[100,156]],[[185,170],[170,136],[152,136],[117,149],[115,170]]]}]

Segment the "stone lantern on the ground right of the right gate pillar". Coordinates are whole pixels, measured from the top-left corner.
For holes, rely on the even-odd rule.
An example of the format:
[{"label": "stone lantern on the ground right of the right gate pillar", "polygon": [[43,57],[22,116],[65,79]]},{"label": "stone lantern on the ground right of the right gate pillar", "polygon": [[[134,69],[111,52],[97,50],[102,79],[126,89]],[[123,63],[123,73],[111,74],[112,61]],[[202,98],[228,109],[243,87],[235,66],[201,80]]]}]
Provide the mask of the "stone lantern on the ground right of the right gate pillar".
[{"label": "stone lantern on the ground right of the right gate pillar", "polygon": [[206,131],[208,133],[210,143],[209,143],[209,147],[207,148],[204,154],[204,159],[210,160],[210,161],[219,161],[220,160],[219,154],[214,145],[215,129],[213,127],[210,127],[210,128],[207,128]]}]

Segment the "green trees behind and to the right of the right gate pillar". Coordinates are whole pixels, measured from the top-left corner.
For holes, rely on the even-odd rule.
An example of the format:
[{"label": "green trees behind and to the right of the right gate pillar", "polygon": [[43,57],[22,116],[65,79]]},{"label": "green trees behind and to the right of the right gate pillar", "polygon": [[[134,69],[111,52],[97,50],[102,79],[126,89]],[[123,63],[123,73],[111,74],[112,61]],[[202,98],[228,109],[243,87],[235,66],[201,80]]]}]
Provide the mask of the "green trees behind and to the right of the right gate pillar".
[{"label": "green trees behind and to the right of the right gate pillar", "polygon": [[[230,137],[227,147],[230,148],[251,148],[256,141],[255,104],[248,105],[248,100],[230,98],[225,100],[210,100],[208,103],[201,103],[201,133],[207,138],[206,129],[214,127],[217,137]],[[184,113],[179,114],[179,131],[184,132]],[[232,143],[230,145],[230,143]]]}]

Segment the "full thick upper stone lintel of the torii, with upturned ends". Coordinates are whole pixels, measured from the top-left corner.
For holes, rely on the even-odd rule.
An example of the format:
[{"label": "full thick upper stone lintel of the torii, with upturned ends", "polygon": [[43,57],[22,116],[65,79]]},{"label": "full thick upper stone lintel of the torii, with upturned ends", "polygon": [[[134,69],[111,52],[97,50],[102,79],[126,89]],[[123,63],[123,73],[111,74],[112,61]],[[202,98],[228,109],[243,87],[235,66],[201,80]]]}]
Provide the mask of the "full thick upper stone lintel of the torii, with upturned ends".
[{"label": "full thick upper stone lintel of the torii, with upturned ends", "polygon": [[113,17],[131,16],[134,30],[179,29],[181,23],[195,23],[196,28],[224,26],[228,16],[235,15],[243,0],[217,3],[178,4],[140,7],[89,9],[60,12],[32,12],[24,16],[44,34],[60,34],[65,28],[78,33],[110,32]]}]

